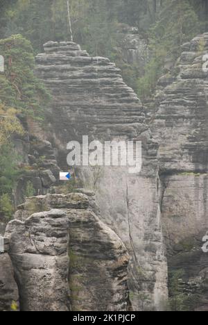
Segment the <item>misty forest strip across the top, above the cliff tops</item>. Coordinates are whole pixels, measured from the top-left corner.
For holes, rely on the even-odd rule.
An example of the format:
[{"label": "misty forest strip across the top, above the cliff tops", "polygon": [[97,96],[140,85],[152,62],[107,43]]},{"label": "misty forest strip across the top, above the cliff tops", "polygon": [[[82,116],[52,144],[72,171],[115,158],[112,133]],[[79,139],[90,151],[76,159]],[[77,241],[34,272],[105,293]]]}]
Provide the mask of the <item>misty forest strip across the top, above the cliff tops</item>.
[{"label": "misty forest strip across the top, above the cliff tops", "polygon": [[[49,41],[70,40],[67,0],[1,0],[0,38],[21,34],[35,53]],[[146,100],[164,73],[166,58],[207,30],[207,0],[69,0],[73,40],[92,56],[107,56],[121,68],[130,87]],[[118,31],[134,26],[149,44],[145,71],[132,67],[119,51]]]}]

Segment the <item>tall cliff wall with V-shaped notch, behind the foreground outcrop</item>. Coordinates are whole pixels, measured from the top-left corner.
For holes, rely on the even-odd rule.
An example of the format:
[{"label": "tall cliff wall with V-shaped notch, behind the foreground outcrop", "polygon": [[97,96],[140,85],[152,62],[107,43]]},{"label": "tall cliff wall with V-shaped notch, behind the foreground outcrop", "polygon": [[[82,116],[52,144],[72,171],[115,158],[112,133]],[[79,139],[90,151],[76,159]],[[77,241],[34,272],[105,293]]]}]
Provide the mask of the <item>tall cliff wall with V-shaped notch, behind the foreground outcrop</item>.
[{"label": "tall cliff wall with V-shaped notch, behind the foreground outcrop", "polygon": [[109,60],[90,58],[69,42],[49,42],[37,56],[37,74],[53,93],[48,136],[62,158],[67,142],[82,135],[143,143],[138,175],[125,167],[103,168],[95,184],[90,168],[79,171],[85,186],[96,187],[102,218],[128,248],[136,310],[162,309],[167,299],[163,234],[170,277],[178,269],[184,274],[185,308],[207,308],[207,255],[201,250],[207,231],[207,38],[184,44],[177,74],[159,80],[151,119],[157,142],[139,99]]}]

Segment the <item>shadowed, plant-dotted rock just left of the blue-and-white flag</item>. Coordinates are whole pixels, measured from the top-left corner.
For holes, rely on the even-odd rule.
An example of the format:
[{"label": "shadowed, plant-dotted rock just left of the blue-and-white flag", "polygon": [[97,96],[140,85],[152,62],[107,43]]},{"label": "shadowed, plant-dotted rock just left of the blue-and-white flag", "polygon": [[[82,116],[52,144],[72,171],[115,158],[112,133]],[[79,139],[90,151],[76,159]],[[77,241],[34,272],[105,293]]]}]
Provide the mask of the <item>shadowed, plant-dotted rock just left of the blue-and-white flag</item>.
[{"label": "shadowed, plant-dotted rock just left of the blue-and-white flag", "polygon": [[[47,194],[52,185],[57,183],[60,167],[55,157],[55,149],[51,143],[42,138],[34,122],[21,120],[25,135],[13,140],[19,167],[22,170],[17,185],[13,189],[15,206],[23,203],[31,195]],[[34,133],[34,134],[33,134]],[[0,235],[3,235],[8,220],[1,219]]]}]

